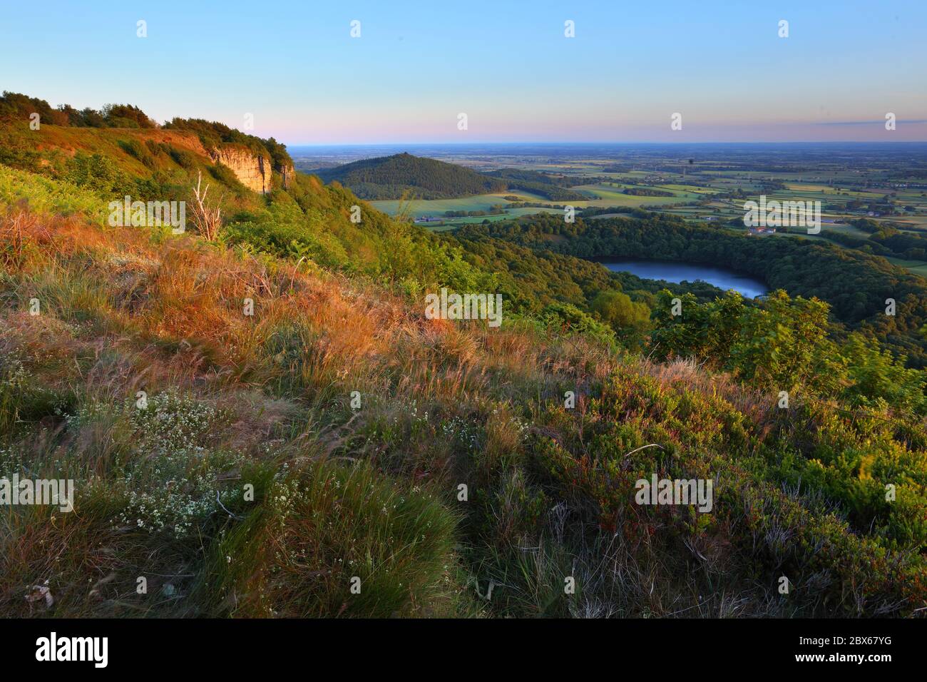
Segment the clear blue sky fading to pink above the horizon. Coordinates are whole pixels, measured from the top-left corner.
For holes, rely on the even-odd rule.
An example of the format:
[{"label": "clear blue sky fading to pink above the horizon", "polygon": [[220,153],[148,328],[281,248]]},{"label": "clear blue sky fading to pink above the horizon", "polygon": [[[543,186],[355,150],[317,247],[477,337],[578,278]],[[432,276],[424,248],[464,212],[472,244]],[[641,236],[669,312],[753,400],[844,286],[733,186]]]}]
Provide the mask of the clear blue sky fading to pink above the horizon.
[{"label": "clear blue sky fading to pink above the horizon", "polygon": [[5,0],[0,89],[288,145],[922,141],[925,29],[924,0]]}]

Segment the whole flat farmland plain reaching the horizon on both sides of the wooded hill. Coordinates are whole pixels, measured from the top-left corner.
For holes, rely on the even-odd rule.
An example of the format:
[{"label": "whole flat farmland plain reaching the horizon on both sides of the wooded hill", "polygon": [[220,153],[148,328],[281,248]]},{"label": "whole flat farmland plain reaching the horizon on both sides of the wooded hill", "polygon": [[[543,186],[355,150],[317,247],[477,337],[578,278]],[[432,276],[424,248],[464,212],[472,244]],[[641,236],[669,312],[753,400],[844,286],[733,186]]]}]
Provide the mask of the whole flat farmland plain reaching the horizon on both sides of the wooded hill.
[{"label": "whole flat farmland plain reaching the horizon on both sides of the wooded hill", "polygon": [[[408,187],[405,200],[373,205],[389,214],[408,212],[435,230],[495,222],[535,212],[563,212],[565,205],[586,217],[609,217],[604,209],[642,209],[686,221],[746,231],[743,204],[758,200],[819,201],[822,230],[777,230],[777,237],[801,236],[846,245],[845,236],[865,240],[855,221],[871,219],[891,230],[927,238],[927,145],[899,150],[891,145],[488,145],[424,146],[414,150],[480,173],[517,169],[549,175],[585,199],[554,200],[521,188],[455,199],[423,199]],[[296,148],[302,170],[327,162],[395,151],[395,148]],[[336,161],[337,160],[337,161]],[[667,195],[667,196],[663,196]],[[865,247],[865,243],[861,244]],[[900,251],[875,251],[910,272],[927,272],[923,244]],[[871,247],[871,244],[870,244]]]}]

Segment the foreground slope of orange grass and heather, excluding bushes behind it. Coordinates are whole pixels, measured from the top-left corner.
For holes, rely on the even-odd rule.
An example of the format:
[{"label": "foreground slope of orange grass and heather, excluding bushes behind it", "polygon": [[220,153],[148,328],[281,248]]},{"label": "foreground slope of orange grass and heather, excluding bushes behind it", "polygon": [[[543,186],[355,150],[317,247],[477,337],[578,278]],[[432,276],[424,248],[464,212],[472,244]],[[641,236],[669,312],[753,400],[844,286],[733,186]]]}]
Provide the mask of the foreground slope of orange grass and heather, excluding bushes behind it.
[{"label": "foreground slope of orange grass and heather, excluding bushes behind it", "polygon": [[[36,212],[13,208],[24,194]],[[0,518],[7,613],[47,612],[30,611],[30,585],[65,616],[924,604],[910,551],[923,469],[893,476],[897,506],[872,532],[816,487],[852,481],[835,447],[922,466],[880,422],[810,403],[783,414],[692,363],[527,319],[429,320],[415,297],[304,258],[95,226],[95,195],[21,171],[0,168],[0,200],[0,465],[76,491],[76,513]],[[820,463],[791,469],[798,444]],[[882,490],[884,465],[867,466],[854,495]],[[651,475],[712,479],[712,513],[635,504]],[[782,575],[799,587],[788,598]],[[180,598],[151,598],[164,595]]]}]

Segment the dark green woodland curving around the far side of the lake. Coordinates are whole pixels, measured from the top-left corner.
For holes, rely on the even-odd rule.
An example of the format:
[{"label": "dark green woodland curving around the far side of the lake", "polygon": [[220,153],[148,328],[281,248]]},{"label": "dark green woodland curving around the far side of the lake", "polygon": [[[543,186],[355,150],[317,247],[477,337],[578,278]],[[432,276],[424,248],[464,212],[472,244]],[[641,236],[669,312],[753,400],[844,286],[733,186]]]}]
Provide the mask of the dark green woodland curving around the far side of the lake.
[{"label": "dark green woodland curving around the far side of the lake", "polygon": [[[804,238],[756,238],[682,219],[600,218],[566,223],[538,214],[485,226],[488,238],[580,258],[619,257],[716,264],[771,289],[830,303],[849,328],[867,329],[912,367],[927,366],[927,282],[884,258]],[[640,213],[638,214],[640,216]],[[895,302],[894,310],[889,300]],[[892,314],[894,313],[894,315]]]}]

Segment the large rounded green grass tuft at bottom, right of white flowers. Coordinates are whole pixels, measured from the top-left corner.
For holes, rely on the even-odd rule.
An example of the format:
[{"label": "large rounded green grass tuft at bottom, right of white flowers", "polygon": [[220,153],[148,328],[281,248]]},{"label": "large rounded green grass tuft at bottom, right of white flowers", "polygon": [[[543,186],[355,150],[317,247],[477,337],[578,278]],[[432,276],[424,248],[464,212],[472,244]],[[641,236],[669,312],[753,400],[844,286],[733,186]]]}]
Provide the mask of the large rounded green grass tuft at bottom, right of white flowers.
[{"label": "large rounded green grass tuft at bottom, right of white flowers", "polygon": [[281,472],[220,536],[205,571],[234,616],[389,617],[452,610],[454,516],[369,466]]}]

